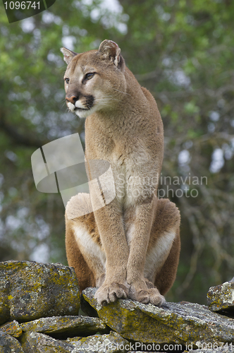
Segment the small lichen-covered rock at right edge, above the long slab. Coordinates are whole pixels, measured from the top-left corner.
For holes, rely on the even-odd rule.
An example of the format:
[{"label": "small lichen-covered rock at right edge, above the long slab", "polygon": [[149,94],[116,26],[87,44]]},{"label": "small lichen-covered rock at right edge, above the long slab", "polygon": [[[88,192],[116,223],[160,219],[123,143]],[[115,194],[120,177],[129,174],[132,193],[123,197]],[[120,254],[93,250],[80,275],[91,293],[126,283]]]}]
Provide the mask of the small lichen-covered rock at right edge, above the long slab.
[{"label": "small lichen-covered rock at right edge, above the long slab", "polygon": [[207,293],[209,309],[212,311],[233,311],[234,313],[234,282],[211,287]]}]

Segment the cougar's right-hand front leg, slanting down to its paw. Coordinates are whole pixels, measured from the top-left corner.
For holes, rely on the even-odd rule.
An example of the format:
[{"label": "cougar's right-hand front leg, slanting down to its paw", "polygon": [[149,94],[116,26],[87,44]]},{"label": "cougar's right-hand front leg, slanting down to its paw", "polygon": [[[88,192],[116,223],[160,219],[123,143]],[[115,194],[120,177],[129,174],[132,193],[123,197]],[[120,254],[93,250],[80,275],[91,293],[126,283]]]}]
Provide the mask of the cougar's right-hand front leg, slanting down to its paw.
[{"label": "cougar's right-hand front leg, slanting down to its paw", "polygon": [[154,287],[148,289],[144,279],[144,265],[149,244],[149,235],[154,220],[156,198],[149,203],[136,205],[135,222],[130,239],[130,254],[127,265],[127,282],[130,285],[128,297],[141,303],[161,305],[164,297]]}]

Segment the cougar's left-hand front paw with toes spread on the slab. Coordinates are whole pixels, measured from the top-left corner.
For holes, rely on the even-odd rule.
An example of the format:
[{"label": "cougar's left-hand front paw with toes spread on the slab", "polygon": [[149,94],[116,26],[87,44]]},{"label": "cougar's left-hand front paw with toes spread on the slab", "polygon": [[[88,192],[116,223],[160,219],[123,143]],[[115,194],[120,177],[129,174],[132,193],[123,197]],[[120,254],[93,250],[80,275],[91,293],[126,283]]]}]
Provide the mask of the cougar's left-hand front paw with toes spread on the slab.
[{"label": "cougar's left-hand front paw with toes spread on the slab", "polygon": [[94,298],[97,299],[99,304],[110,303],[116,301],[118,298],[126,299],[128,297],[128,285],[122,283],[110,283],[109,285],[101,285]]}]

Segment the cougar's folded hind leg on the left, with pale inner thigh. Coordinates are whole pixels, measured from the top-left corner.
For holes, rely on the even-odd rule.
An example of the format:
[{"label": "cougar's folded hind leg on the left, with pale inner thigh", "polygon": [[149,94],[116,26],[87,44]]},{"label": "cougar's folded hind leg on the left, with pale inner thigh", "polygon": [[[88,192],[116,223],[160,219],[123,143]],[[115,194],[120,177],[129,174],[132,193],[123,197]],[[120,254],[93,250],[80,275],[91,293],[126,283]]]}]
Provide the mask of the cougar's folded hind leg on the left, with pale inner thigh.
[{"label": "cougar's folded hind leg on the left, with pale inner thigh", "polygon": [[80,292],[86,287],[101,285],[106,256],[87,193],[73,196],[66,207],[66,255],[68,265],[75,269]]}]

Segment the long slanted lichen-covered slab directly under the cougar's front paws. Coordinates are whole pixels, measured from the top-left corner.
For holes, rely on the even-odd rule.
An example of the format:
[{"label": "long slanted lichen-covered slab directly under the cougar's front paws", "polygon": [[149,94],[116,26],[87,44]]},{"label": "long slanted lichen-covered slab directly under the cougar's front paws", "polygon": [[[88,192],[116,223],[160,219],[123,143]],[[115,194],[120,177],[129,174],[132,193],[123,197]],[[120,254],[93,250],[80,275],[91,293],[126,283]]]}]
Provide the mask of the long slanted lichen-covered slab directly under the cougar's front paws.
[{"label": "long slanted lichen-covered slab directly under the cougar's front paws", "polygon": [[119,299],[101,306],[94,299],[97,288],[87,288],[83,297],[97,310],[99,318],[112,330],[137,342],[193,343],[233,342],[234,320],[212,313],[207,306],[191,303],[166,303],[159,308],[152,304]]}]

